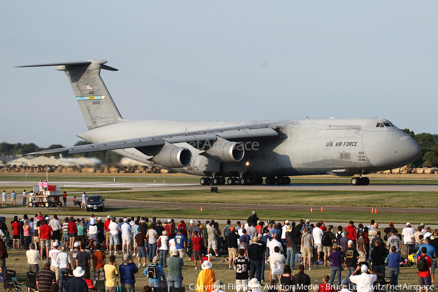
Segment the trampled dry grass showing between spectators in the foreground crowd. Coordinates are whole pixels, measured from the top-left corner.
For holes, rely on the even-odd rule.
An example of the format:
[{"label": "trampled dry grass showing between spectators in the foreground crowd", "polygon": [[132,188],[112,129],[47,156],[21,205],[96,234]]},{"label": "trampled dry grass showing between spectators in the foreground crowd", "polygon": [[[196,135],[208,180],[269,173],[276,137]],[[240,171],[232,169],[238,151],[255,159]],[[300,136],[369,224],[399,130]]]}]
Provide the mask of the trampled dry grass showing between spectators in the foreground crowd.
[{"label": "trampled dry grass showing between spectators in the foreground crowd", "polygon": [[[9,225],[9,228],[11,228],[10,220],[8,220],[7,224]],[[224,224],[220,224],[219,227],[221,230],[223,230]],[[10,267],[11,270],[17,271],[17,278],[19,281],[24,281],[26,279],[26,273],[27,273],[27,261],[26,261],[26,255],[25,250],[23,249],[16,249],[8,250],[9,257],[6,259],[6,266]],[[109,256],[109,253],[106,252],[107,257]],[[122,256],[116,256],[116,260],[118,265],[122,263]],[[228,270],[228,263],[222,262],[224,261],[224,257],[219,258],[212,258],[213,267],[212,270],[215,272],[216,279],[222,280],[225,282],[226,285],[228,284],[235,284],[236,282],[236,274],[234,271]],[[135,262],[137,260],[135,259]],[[40,268],[42,268],[42,261],[40,262]],[[296,267],[298,266],[298,263],[296,263]],[[118,268],[118,267],[117,267]],[[140,267],[138,268],[139,272],[136,274],[136,290],[141,291],[142,287],[145,285],[148,285],[148,279],[143,274],[143,271],[145,268]],[[269,280],[269,264],[266,265],[265,270],[265,279]],[[167,275],[167,268],[164,268],[164,272]],[[184,258],[184,270],[183,270],[183,286],[185,287],[186,291],[193,290],[193,286],[197,282],[198,274],[200,270],[195,271],[194,270],[194,263],[193,261],[188,260],[188,258]],[[296,274],[297,271],[292,271],[292,274]],[[324,275],[330,275],[330,268],[324,267],[322,265],[318,266],[318,269],[312,270],[312,271],[306,271],[306,274],[310,276],[310,280],[312,284],[322,284],[322,278]],[[401,268],[400,269],[400,275],[399,275],[399,284],[417,284],[418,283],[418,271],[416,268]],[[386,275],[388,275],[386,271]],[[347,274],[345,271],[342,272],[342,278],[346,278]],[[91,272],[91,278],[92,278],[92,272]],[[336,279],[334,281],[336,284]],[[191,285],[193,284],[193,285]],[[263,282],[262,285],[265,285],[266,283]],[[228,287],[228,286],[227,286]],[[192,288],[192,289],[191,289]],[[230,286],[231,288],[231,286]],[[262,289],[264,286],[262,286]],[[231,289],[225,289],[226,291],[233,291]],[[267,291],[267,289],[264,289]]]}]

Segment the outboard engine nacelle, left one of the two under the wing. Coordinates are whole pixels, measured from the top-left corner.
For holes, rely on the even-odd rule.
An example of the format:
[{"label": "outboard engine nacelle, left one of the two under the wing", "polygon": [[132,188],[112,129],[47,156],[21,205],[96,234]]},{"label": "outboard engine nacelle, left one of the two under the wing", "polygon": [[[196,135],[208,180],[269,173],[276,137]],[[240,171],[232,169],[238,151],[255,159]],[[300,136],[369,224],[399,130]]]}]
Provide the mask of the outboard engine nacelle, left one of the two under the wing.
[{"label": "outboard engine nacelle, left one of the two under the wing", "polygon": [[185,147],[167,148],[152,158],[156,164],[168,168],[180,168],[192,163],[192,152]]}]

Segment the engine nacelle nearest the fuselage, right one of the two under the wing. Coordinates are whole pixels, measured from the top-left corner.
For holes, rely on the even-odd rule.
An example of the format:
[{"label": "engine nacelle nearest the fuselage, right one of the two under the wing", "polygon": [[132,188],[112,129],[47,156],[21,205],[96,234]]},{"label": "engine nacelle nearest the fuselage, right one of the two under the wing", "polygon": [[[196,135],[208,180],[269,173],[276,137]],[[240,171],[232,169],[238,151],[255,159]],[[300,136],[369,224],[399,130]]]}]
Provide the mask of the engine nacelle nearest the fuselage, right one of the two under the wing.
[{"label": "engine nacelle nearest the fuselage, right one of the two under the wing", "polygon": [[243,155],[245,155],[245,149],[242,144],[225,139],[218,139],[213,146],[205,151],[205,157],[216,162],[239,162]]}]

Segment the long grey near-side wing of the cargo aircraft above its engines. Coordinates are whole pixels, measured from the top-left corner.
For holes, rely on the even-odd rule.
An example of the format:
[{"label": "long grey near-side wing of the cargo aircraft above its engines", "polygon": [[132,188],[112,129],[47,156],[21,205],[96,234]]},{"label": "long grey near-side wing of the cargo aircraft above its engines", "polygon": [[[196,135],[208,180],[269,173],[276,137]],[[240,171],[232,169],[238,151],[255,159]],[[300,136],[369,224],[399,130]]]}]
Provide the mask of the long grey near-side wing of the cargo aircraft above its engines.
[{"label": "long grey near-side wing of the cargo aircraft above its engines", "polygon": [[278,136],[278,132],[275,130],[275,126],[268,124],[254,124],[246,126],[203,129],[191,132],[124,139],[82,146],[63,147],[32,152],[28,153],[28,155],[54,153],[78,154],[125,148],[136,148],[146,155],[154,155],[160,151],[160,149],[162,148],[162,146],[164,146],[166,142],[170,144],[197,143],[207,140],[216,141],[219,137],[229,141],[236,141],[238,139],[252,139],[275,136]]}]

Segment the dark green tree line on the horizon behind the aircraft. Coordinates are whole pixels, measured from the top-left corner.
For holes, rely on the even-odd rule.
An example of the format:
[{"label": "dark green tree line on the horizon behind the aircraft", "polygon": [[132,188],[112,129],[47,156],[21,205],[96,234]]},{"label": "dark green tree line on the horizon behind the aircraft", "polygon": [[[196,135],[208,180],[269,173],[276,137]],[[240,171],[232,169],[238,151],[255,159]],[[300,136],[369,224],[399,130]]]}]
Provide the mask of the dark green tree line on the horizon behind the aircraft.
[{"label": "dark green tree line on the horizon behind the aircraft", "polygon": [[[438,135],[429,133],[415,134],[409,129],[403,129],[403,131],[411,136],[421,147],[421,155],[417,160],[415,160],[412,166],[437,166],[438,167]],[[78,141],[74,146],[87,145],[90,142]],[[29,144],[10,144],[10,143],[0,143],[0,156],[16,156],[24,155],[26,153],[31,153],[35,151],[62,148],[64,146],[59,144],[54,144],[48,148],[38,147],[34,143]],[[122,159],[122,156],[111,152],[111,151],[101,151],[101,152],[91,152],[83,154],[74,154],[73,157],[95,157],[100,159],[105,164],[116,164]]]}]

